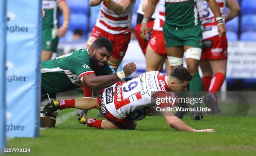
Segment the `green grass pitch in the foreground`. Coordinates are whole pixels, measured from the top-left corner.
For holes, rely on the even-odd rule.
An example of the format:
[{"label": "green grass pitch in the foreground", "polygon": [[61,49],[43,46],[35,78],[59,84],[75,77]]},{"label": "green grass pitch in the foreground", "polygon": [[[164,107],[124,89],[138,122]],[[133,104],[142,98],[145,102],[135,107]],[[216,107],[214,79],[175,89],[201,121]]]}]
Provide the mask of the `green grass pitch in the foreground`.
[{"label": "green grass pitch in the foreground", "polygon": [[[63,117],[75,109],[59,111]],[[97,110],[90,111],[96,118]],[[136,130],[100,130],[79,124],[74,114],[56,128],[41,130],[38,138],[8,139],[8,147],[29,147],[31,153],[8,155],[256,155],[255,117],[206,116],[183,121],[196,129],[214,128],[214,133],[179,132],[166,125],[163,117],[146,117]],[[58,120],[58,119],[57,119]]]}]

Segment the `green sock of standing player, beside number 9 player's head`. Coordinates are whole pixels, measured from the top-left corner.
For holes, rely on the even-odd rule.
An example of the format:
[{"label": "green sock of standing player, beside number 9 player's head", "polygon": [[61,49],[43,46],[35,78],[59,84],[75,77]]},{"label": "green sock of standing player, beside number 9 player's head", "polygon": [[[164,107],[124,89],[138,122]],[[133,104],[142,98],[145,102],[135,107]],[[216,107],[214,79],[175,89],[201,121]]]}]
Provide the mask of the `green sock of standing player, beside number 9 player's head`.
[{"label": "green sock of standing player, beside number 9 player's head", "polygon": [[[192,92],[193,97],[200,98],[200,93],[197,93],[197,92],[204,91],[204,89],[203,89],[202,79],[199,75],[199,72],[192,75],[192,80],[189,83],[189,90]],[[194,104],[194,108],[197,108],[197,107],[200,107],[200,103]]]}]

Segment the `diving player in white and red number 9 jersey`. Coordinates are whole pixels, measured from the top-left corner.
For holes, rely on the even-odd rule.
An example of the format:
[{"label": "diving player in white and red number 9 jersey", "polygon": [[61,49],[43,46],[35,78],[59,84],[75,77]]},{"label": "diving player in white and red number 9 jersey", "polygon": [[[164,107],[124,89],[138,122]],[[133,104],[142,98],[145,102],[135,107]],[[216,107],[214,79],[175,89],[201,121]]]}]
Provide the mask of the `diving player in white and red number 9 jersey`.
[{"label": "diving player in white and red number 9 jersey", "polygon": [[[169,97],[166,91],[184,91],[192,75],[183,66],[173,68],[169,76],[158,71],[139,75],[126,83],[116,83],[103,89],[98,98],[79,98],[71,100],[51,101],[44,108],[44,113],[57,109],[101,109],[106,120],[96,120],[83,116],[79,122],[87,126],[101,129],[135,129],[136,121],[129,119],[129,113],[147,106],[156,106],[157,98]],[[152,100],[153,99],[153,100]],[[160,108],[169,108],[170,103],[161,103]],[[161,111],[166,123],[178,131],[212,132],[214,129],[195,130],[187,126],[172,111]]]}]

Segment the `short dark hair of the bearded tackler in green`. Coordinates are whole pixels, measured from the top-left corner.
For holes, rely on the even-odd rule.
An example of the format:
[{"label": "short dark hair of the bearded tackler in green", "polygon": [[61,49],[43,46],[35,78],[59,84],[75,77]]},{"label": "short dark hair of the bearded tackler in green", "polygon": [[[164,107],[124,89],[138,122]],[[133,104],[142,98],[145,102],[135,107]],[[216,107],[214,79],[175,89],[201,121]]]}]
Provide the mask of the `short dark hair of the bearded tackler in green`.
[{"label": "short dark hair of the bearded tackler in green", "polygon": [[113,51],[113,45],[111,41],[108,38],[105,37],[99,37],[97,38],[91,45],[95,48],[103,48],[105,47],[109,52]]}]

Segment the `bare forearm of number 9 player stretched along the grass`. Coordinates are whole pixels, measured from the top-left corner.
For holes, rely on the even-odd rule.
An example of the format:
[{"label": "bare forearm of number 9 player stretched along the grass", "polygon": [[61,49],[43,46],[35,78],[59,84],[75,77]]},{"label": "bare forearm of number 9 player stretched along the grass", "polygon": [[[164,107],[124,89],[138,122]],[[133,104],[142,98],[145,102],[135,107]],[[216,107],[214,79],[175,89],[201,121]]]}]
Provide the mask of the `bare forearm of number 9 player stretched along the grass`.
[{"label": "bare forearm of number 9 player stretched along the grass", "polygon": [[[164,107],[167,108],[167,107]],[[177,118],[173,112],[171,111],[161,111],[162,115],[165,118],[166,123],[168,126],[176,129],[177,131],[189,131],[189,132],[214,132],[214,129],[200,129],[196,130],[192,127],[189,127],[184,123],[182,120]]]}]

